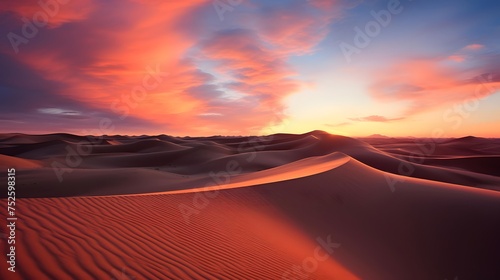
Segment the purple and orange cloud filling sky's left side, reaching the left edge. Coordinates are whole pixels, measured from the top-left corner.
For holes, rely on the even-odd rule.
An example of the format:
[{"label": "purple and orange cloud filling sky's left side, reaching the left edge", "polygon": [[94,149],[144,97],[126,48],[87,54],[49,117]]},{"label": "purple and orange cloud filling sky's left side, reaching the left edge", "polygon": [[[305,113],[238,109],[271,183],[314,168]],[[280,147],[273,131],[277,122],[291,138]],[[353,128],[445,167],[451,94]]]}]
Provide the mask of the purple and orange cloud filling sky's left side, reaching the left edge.
[{"label": "purple and orange cloud filling sky's left side, reaching the left edge", "polygon": [[[11,103],[5,105],[19,104],[18,109],[21,109],[24,118],[28,118],[26,114],[48,117],[47,112],[33,107],[36,102],[33,105],[31,102],[21,104],[20,96],[33,95],[40,99],[39,108],[81,111],[82,115],[94,120],[96,117],[88,114],[101,112],[101,115],[118,119],[131,131],[151,127],[162,131],[175,128],[171,122],[181,127],[181,123],[195,119],[195,112],[203,106],[203,100],[190,96],[186,91],[209,83],[210,76],[204,75],[189,60],[180,59],[198,37],[186,32],[191,26],[178,29],[177,24],[184,20],[186,13],[204,5],[204,2],[120,1],[119,8],[115,2],[99,3],[98,8],[86,12],[85,17],[71,20],[66,17],[64,23],[71,24],[60,22],[43,30],[28,44],[20,46],[17,55],[8,42],[2,41],[0,51],[3,58],[0,59],[8,61],[9,66],[18,70],[15,77],[9,75],[13,79],[6,82],[9,86],[3,89],[3,95],[11,96],[8,99]],[[63,8],[74,8],[73,4],[68,2],[61,7],[61,11]],[[21,11],[17,13],[19,17],[26,13],[22,12],[26,8],[16,9]],[[165,17],[167,13],[169,16]],[[11,24],[2,29],[13,27],[14,30],[20,29],[21,24]],[[150,72],[158,71],[171,72],[171,77],[167,80],[161,76],[161,83],[147,90],[143,100],[131,101],[133,90],[143,84]],[[30,75],[36,79],[31,79]],[[40,92],[45,96],[42,97]],[[126,107],[126,120],[120,118],[121,112],[113,109],[112,105],[116,102]],[[137,119],[143,121],[135,121]],[[145,122],[147,125],[144,125]],[[92,126],[98,124],[97,119]],[[129,124],[140,124],[140,127]],[[66,126],[74,127],[69,122]]]}]

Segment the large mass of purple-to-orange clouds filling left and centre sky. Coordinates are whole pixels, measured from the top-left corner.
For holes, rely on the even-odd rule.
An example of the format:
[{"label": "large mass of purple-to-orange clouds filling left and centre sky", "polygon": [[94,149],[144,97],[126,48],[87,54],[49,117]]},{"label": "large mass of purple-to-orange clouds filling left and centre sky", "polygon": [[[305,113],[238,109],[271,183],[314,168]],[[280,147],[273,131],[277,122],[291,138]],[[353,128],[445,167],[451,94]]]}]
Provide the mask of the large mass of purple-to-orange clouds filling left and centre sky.
[{"label": "large mass of purple-to-orange clouds filling left and centre sky", "polygon": [[[120,131],[256,133],[286,117],[285,98],[303,86],[289,60],[325,38],[336,3],[246,3],[238,9],[250,13],[220,23],[205,0],[69,1],[18,54],[0,42],[0,119],[19,118],[26,130],[47,120],[47,129],[93,128],[109,117]],[[0,33],[20,32],[40,9],[4,6]]]}]

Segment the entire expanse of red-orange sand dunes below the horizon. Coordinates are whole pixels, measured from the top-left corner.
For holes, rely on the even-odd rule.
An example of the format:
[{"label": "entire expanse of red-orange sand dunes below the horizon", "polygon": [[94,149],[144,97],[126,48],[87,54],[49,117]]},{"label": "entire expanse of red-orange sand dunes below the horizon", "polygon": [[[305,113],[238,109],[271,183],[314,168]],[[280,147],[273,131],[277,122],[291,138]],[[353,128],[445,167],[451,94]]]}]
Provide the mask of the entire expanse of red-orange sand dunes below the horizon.
[{"label": "entire expanse of red-orange sand dunes below the horizon", "polygon": [[498,139],[89,139],[0,135],[1,279],[500,279]]}]

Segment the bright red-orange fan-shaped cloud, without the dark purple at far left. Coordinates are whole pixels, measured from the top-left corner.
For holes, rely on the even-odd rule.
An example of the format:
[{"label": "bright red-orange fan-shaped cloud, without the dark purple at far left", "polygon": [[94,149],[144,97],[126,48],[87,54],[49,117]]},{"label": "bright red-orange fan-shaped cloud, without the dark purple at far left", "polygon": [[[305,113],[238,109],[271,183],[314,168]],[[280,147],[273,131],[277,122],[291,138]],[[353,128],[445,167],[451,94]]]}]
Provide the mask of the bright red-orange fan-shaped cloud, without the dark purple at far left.
[{"label": "bright red-orange fan-shaped cloud, without the dark purple at far left", "polygon": [[[196,111],[202,106],[201,101],[184,91],[205,80],[196,75],[193,65],[179,61],[196,38],[177,30],[176,24],[203,2],[124,3],[106,18],[101,17],[104,10],[100,10],[90,15],[92,21],[76,27],[79,34],[68,33],[66,37],[61,36],[64,31],[51,31],[57,32],[56,41],[46,45],[34,42],[36,48],[22,52],[18,59],[45,79],[66,85],[58,91],[65,97],[105,110],[114,110],[112,105],[118,102],[115,107],[127,107],[127,116],[149,120],[161,128],[169,123],[169,116]],[[164,16],[172,12],[174,15]],[[105,20],[118,24],[99,26]],[[40,41],[51,34],[44,36]],[[148,67],[169,76],[162,74],[162,81],[147,90],[145,98],[134,100],[134,89],[142,86]],[[124,111],[116,109],[119,115]]]}]

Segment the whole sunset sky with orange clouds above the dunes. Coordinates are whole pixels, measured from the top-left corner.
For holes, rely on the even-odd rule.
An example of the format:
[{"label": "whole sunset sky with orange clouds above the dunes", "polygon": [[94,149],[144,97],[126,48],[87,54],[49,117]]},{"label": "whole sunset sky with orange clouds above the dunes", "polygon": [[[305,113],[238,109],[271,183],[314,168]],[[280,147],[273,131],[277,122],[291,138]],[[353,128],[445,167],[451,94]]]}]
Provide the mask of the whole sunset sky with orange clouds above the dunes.
[{"label": "whole sunset sky with orange clouds above the dunes", "polygon": [[0,132],[500,137],[500,2],[0,4]]}]

